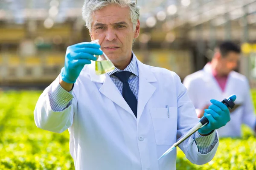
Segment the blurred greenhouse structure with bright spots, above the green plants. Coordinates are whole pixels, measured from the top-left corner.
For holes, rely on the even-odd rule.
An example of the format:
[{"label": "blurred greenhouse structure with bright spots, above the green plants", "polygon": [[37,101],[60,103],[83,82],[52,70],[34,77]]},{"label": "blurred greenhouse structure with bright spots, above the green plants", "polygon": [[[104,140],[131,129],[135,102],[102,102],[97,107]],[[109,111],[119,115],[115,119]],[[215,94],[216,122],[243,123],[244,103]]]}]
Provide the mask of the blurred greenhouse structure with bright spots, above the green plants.
[{"label": "blurred greenhouse structure with bright spots, above the green plants", "polygon": [[[43,89],[59,74],[67,46],[90,41],[83,0],[0,0],[0,87]],[[216,44],[233,40],[237,71],[256,79],[255,0],[138,0],[141,32],[134,52],[181,79],[203,68]]]}]

